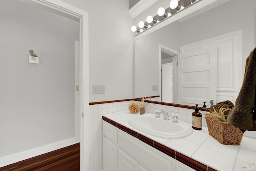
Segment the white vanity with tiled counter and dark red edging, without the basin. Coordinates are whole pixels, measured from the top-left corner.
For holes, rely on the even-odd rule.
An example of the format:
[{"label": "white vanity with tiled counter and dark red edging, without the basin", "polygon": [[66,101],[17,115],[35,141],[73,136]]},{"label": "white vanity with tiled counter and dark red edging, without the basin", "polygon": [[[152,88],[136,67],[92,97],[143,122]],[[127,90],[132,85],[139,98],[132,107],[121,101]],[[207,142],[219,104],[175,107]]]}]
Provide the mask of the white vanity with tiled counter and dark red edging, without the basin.
[{"label": "white vanity with tiled counter and dark red edging, without the basin", "polygon": [[[243,157],[249,151],[246,145],[255,144],[255,139],[243,137],[239,146],[222,145],[207,127],[180,139],[163,139],[133,128],[128,121],[138,116],[128,110],[103,115],[104,171],[238,171],[254,166]],[[251,150],[250,156],[256,152]]]}]

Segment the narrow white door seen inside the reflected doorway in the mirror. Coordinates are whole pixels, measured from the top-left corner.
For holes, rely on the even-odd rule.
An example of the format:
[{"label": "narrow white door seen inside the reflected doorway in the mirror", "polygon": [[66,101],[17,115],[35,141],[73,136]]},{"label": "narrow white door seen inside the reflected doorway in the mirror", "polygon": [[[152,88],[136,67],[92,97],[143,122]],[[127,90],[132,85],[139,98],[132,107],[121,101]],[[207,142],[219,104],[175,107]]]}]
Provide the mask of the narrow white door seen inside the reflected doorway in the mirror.
[{"label": "narrow white door seen inside the reflected doorway in the mirror", "polygon": [[162,102],[173,103],[172,62],[162,65]]}]

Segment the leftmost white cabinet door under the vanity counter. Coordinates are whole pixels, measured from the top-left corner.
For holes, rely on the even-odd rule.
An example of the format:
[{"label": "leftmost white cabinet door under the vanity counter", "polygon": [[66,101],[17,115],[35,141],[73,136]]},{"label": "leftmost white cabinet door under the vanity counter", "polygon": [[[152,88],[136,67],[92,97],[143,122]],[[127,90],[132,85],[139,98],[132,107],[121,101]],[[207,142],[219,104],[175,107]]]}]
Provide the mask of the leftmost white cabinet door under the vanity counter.
[{"label": "leftmost white cabinet door under the vanity counter", "polygon": [[117,171],[117,147],[106,137],[103,137],[103,169]]}]

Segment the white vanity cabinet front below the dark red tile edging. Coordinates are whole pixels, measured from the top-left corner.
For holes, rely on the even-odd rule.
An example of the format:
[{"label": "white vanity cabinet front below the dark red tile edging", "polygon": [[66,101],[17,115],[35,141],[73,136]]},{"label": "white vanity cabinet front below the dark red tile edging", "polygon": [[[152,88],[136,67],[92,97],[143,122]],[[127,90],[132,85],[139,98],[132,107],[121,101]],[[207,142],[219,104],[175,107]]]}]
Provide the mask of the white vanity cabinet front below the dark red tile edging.
[{"label": "white vanity cabinet front below the dark red tile edging", "polygon": [[138,138],[103,122],[104,171],[193,171]]}]

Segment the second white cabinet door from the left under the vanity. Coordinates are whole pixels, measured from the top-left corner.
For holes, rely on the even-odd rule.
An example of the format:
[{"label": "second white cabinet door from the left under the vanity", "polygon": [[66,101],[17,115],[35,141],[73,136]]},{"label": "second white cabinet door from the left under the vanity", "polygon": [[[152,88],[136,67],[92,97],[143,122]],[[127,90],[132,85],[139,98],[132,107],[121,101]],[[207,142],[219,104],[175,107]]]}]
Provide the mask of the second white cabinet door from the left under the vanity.
[{"label": "second white cabinet door from the left under the vanity", "polygon": [[118,171],[138,171],[138,163],[121,149],[118,149]]}]

